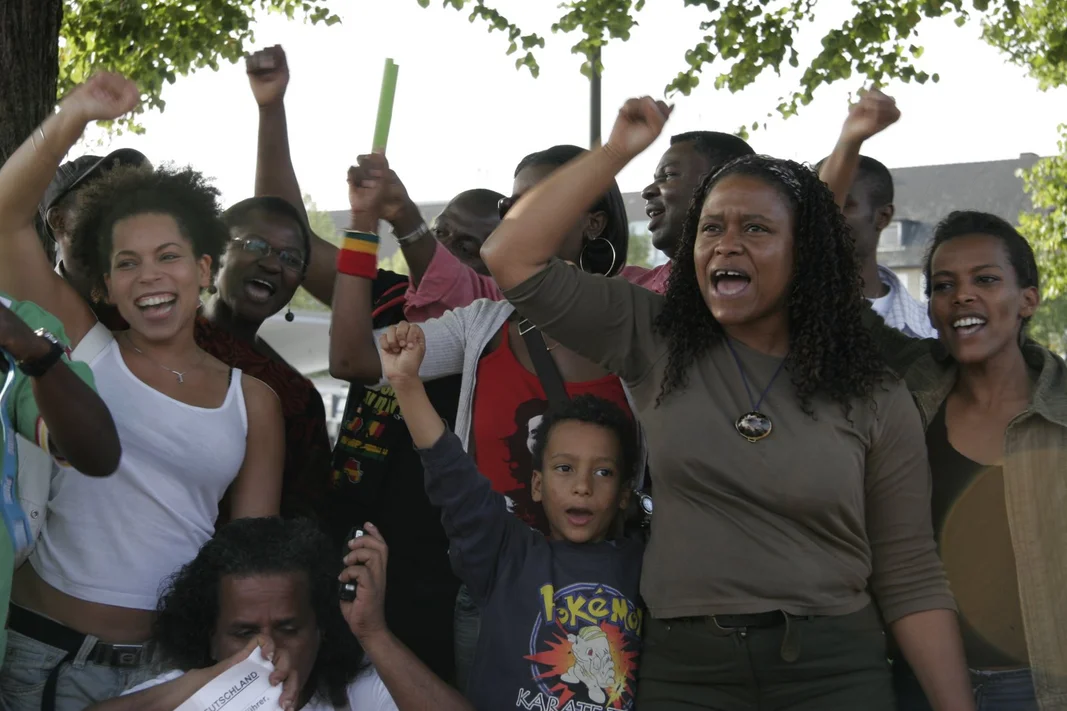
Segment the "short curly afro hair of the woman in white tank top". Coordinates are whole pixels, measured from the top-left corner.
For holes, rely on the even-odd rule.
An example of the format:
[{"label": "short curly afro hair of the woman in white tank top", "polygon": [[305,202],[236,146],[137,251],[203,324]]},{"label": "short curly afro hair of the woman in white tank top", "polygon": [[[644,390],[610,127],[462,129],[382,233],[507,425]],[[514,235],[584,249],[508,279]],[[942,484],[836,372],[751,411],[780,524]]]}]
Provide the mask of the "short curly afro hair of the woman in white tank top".
[{"label": "short curly afro hair of the woman in white tank top", "polygon": [[218,271],[229,241],[229,230],[220,219],[219,190],[191,168],[117,165],[77,195],[70,250],[93,279],[94,299],[106,294],[115,223],[146,214],[173,217],[196,256],[210,256],[212,275]]}]

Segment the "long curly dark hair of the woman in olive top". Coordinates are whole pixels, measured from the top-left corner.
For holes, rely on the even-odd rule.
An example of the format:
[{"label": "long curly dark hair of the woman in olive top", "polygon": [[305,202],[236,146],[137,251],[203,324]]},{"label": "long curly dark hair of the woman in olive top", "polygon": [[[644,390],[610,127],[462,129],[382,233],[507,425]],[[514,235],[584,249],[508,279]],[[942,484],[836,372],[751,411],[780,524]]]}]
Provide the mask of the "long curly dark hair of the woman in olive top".
[{"label": "long curly dark hair of the woman in olive top", "polygon": [[731,175],[746,175],[775,187],[794,218],[794,272],[787,300],[790,372],[800,407],[814,416],[817,393],[840,402],[848,414],[853,400],[870,399],[886,375],[874,339],[860,322],[866,309],[855,242],[829,188],[810,168],[792,160],[746,156],[706,176],[694,193],[675,264],[667,280],[664,310],[656,333],[667,338],[669,353],[658,407],[688,382],[692,363],[726,333],[704,302],[697,284],[692,249],[704,200]]}]

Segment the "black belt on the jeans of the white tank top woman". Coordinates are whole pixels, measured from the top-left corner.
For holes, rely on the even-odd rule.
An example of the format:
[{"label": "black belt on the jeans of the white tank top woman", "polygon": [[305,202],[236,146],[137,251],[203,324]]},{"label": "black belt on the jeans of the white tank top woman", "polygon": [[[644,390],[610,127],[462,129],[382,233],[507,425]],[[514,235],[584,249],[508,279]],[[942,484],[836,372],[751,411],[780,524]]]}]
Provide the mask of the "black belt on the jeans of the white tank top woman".
[{"label": "black belt on the jeans of the white tank top woman", "polygon": [[[89,635],[18,605],[11,605],[7,613],[7,629],[66,652],[66,657],[60,660],[60,663],[52,667],[48,675],[45,692],[41,699],[41,711],[55,711],[55,685],[60,678],[60,667],[73,662],[78,657],[78,652]],[[105,666],[137,667],[147,663],[150,657],[150,643],[112,645],[97,642],[89,651],[85,661]]]}]

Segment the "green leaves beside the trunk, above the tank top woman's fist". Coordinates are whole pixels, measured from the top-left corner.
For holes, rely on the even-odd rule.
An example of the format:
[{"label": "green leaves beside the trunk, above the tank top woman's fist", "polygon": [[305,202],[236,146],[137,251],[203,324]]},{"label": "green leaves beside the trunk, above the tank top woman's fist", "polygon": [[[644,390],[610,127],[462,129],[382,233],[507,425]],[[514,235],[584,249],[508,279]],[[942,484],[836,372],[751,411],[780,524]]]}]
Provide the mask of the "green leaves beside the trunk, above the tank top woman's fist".
[{"label": "green leaves beside the trunk, above the tank top woman's fist", "polygon": [[[195,69],[237,62],[267,10],[334,25],[324,0],[66,0],[60,31],[59,94],[99,69],[120,72],[143,92],[139,111],[162,110],[163,85]],[[133,130],[131,120],[123,120]]]}]

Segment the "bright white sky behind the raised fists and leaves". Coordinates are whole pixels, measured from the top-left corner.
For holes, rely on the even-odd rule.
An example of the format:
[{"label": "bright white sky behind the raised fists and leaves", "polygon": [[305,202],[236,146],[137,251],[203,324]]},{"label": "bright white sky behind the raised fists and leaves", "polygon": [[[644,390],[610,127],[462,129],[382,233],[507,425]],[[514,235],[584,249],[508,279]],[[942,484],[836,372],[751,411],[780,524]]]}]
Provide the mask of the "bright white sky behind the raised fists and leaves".
[{"label": "bright white sky behind the raised fists and leaves", "polygon": [[[505,56],[507,40],[490,34],[466,13],[428,10],[415,0],[334,0],[340,25],[312,27],[277,15],[256,25],[258,46],[285,47],[292,72],[287,95],[290,141],[301,187],[319,207],[345,206],[345,172],[370,147],[382,64],[400,65],[389,137],[389,160],[417,201],[447,200],[475,187],[510,193],[515,163],[557,143],[587,145],[589,85],[570,53],[576,40],[552,35],[559,16],[551,0],[500,0],[500,11],[527,31],[546,37],[541,76],[516,72]],[[823,3],[823,7],[826,3]],[[841,2],[842,11],[846,3]],[[604,52],[604,126],[632,95],[660,96],[684,65],[684,52],[702,34],[702,11],[682,0],[649,3],[628,43]],[[842,16],[827,21],[840,21]],[[941,76],[938,84],[891,84],[904,113],[865,153],[891,168],[1014,158],[1055,152],[1056,125],[1067,122],[1067,89],[1041,93],[1024,72],[978,38],[977,26],[927,21],[920,68]],[[801,67],[826,25],[798,41]],[[620,176],[624,191],[640,190],[667,145],[666,133],[707,129],[734,131],[763,121],[796,85],[798,72],[767,74],[740,94],[717,92],[714,74],[676,108],[660,140]],[[789,121],[769,120],[750,143],[761,153],[817,160],[830,151],[858,81],[822,88],[815,101]],[[256,107],[242,65],[224,65],[179,78],[164,90],[166,110],[144,117],[144,136],[113,139],[110,147],[134,147],[154,162],[192,164],[212,176],[227,204],[252,193]],[[106,139],[105,139],[106,141]],[[100,153],[92,141],[73,155]]]}]

